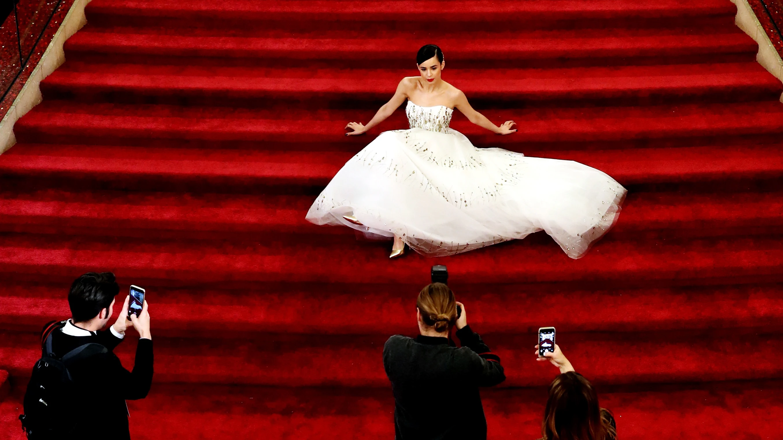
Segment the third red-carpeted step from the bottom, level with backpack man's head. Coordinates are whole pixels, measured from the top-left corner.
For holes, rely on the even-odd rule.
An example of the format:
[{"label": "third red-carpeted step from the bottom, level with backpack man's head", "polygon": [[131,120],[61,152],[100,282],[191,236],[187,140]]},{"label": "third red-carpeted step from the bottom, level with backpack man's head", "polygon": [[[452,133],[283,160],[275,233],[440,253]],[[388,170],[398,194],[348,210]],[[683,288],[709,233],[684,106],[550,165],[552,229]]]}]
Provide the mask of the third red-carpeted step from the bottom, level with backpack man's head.
[{"label": "third red-carpeted step from the bottom, level with backpack man's head", "polygon": [[[449,266],[450,267],[450,266]],[[127,280],[127,278],[126,278]],[[120,280],[122,281],[122,279]],[[406,334],[415,331],[416,295],[428,273],[412,273],[419,284],[265,284],[243,290],[172,288],[143,284],[154,310],[154,333],[165,338],[227,338],[237,331],[300,334]],[[136,282],[136,281],[134,281]],[[0,329],[38,334],[51,320],[70,316],[68,282],[5,282],[0,294]],[[783,284],[579,290],[553,285],[476,284],[452,274],[449,285],[465,304],[469,322],[489,334],[535,332],[542,320],[562,334],[577,332],[704,332],[781,327]],[[121,284],[124,300],[127,284]],[[318,292],[319,301],[312,301]],[[543,303],[554,310],[543,318]],[[356,313],[362,310],[362,313]],[[687,310],[687,313],[684,311]],[[112,322],[119,316],[114,307]]]}]

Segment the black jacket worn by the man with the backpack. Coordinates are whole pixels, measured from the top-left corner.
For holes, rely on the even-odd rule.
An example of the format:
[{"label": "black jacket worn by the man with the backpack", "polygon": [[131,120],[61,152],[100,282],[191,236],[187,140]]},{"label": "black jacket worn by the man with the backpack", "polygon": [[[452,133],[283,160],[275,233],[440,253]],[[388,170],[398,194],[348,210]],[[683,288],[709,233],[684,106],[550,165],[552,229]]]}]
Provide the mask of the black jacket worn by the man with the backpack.
[{"label": "black jacket worn by the man with the backpack", "polygon": [[128,406],[125,399],[143,399],[150,392],[153,376],[153,352],[150,339],[139,339],[132,371],[122,367],[114,347],[122,342],[110,331],[98,331],[90,336],[72,336],[57,329],[52,331],[52,351],[62,357],[80,345],[97,343],[109,352],[73,363],[68,370],[74,378],[78,406],[76,436],[129,439]]}]

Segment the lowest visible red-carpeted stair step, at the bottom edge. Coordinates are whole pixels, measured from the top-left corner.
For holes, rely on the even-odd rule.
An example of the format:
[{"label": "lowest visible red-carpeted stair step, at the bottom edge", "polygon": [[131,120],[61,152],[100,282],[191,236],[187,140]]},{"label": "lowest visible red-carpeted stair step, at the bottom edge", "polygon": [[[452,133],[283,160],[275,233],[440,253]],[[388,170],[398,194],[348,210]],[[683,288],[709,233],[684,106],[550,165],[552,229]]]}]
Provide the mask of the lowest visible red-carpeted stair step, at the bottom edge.
[{"label": "lowest visible red-carpeted stair step, at the bottom edge", "polygon": [[[554,372],[550,371],[550,378]],[[598,388],[620,435],[645,438],[765,438],[783,417],[781,381]],[[543,387],[482,388],[488,438],[537,438],[547,401]],[[0,403],[0,438],[17,438],[22,393]],[[277,388],[168,385],[128,401],[132,438],[351,438],[394,435],[394,398],[388,388]],[[704,420],[704,421],[702,421]],[[720,423],[712,423],[720,420]],[[175,423],[172,423],[175,421]]]}]

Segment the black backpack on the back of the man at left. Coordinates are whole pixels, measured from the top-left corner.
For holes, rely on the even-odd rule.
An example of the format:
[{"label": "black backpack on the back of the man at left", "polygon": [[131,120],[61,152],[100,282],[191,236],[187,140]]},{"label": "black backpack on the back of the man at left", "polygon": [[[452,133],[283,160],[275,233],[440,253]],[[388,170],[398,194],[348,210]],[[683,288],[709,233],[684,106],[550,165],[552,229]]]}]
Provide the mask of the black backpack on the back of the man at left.
[{"label": "black backpack on the back of the man at left", "polygon": [[68,367],[77,360],[109,352],[100,344],[90,343],[58,356],[52,352],[52,331],[67,321],[47,324],[41,333],[41,359],[35,363],[27,392],[24,393],[24,413],[20,415],[22,429],[31,440],[63,438],[73,430],[76,420],[74,380]]}]

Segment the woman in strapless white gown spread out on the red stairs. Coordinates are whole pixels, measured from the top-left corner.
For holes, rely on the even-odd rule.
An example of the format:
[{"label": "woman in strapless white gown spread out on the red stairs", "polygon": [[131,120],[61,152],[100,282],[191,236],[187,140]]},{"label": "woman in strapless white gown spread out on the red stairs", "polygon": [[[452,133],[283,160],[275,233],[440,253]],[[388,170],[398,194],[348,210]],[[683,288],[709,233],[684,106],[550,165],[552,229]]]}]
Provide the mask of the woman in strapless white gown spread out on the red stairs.
[{"label": "woman in strapless white gown spread out on the red stairs", "polygon": [[525,157],[476,148],[449,128],[453,109],[497,134],[497,127],[441,79],[446,66],[435,45],[419,50],[420,77],[400,81],[363,134],[408,100],[409,130],[381,133],[345,163],[313,202],[307,220],[345,225],[394,238],[391,258],[405,245],[425,256],[447,256],[547,231],[571,258],[615,223],[626,189],[607,174],[570,160]]}]

